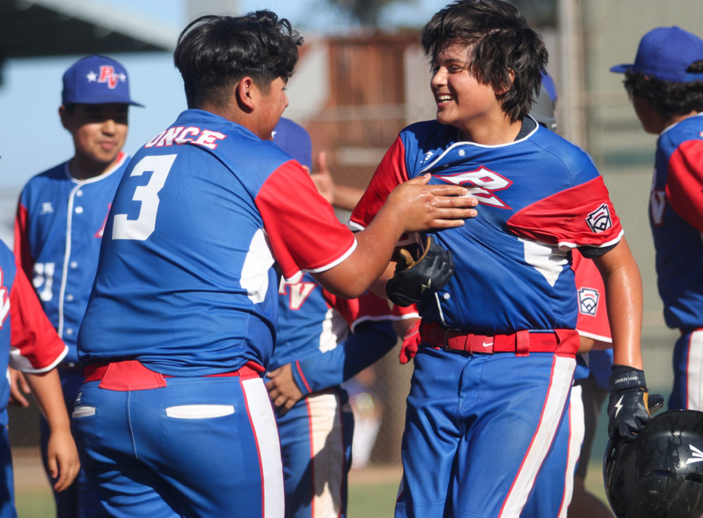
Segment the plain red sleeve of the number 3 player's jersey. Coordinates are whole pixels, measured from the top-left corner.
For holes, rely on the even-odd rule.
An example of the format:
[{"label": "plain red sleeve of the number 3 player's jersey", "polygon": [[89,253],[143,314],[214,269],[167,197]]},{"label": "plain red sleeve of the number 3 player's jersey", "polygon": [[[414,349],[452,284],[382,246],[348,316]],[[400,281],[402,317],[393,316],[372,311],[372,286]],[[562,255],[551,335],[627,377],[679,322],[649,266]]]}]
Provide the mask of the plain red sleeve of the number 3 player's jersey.
[{"label": "plain red sleeve of the number 3 player's jersey", "polygon": [[356,246],[354,234],[337,219],[332,205],[295,160],[273,171],[256,204],[286,280],[297,278],[301,270],[332,268]]}]

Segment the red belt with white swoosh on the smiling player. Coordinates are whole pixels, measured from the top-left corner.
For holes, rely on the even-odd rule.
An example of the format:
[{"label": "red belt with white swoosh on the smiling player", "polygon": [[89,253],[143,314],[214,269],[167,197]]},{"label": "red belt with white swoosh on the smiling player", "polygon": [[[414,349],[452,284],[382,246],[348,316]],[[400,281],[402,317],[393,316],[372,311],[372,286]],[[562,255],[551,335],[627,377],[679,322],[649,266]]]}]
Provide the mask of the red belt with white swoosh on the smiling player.
[{"label": "red belt with white swoosh on the smiling player", "polygon": [[446,329],[429,320],[420,323],[420,337],[436,349],[467,354],[515,353],[515,356],[529,356],[530,353],[555,353],[559,356],[574,356],[580,344],[579,333],[572,329],[477,335]]}]

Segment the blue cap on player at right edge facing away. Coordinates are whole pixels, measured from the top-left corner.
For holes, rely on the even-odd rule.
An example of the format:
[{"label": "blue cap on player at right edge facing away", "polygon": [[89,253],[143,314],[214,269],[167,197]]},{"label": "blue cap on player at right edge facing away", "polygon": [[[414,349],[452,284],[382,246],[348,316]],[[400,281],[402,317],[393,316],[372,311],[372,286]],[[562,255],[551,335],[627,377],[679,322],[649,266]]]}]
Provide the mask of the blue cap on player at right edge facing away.
[{"label": "blue cap on player at right edge facing away", "polygon": [[703,60],[703,39],[674,25],[657,27],[640,40],[635,63],[615,65],[610,72],[640,72],[672,83],[688,83],[700,79],[703,73],[686,72],[695,61]]}]

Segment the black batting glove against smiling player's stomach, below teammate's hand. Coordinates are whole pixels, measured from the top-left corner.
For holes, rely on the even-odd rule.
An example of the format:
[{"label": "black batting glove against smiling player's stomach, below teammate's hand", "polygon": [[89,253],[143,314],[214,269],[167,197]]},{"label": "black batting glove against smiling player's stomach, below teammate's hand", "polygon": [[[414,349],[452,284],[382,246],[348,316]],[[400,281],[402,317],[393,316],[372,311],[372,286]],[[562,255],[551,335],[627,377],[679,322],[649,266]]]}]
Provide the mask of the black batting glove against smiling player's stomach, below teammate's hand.
[{"label": "black batting glove against smiling player's stomach, below teammate's hand", "polygon": [[399,249],[396,259],[393,278],[386,283],[386,294],[399,306],[410,306],[438,292],[454,275],[451,252],[437,245],[431,235],[427,236],[418,259],[405,248]]}]

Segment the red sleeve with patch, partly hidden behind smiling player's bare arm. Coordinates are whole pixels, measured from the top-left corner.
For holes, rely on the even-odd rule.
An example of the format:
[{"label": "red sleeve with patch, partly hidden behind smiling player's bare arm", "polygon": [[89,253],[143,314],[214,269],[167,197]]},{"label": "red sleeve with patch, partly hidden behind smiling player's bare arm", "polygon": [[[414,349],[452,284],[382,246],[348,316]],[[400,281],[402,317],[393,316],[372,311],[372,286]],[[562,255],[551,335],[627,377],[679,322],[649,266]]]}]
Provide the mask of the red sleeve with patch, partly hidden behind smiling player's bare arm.
[{"label": "red sleeve with patch, partly hidden behind smiling player's bare arm", "polygon": [[612,342],[610,323],[605,306],[605,286],[591,259],[586,259],[578,250],[574,250],[572,269],[576,281],[576,293],[579,297],[579,316],[576,331],[584,337]]}]

